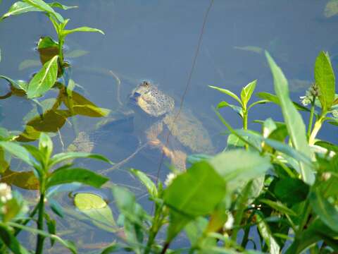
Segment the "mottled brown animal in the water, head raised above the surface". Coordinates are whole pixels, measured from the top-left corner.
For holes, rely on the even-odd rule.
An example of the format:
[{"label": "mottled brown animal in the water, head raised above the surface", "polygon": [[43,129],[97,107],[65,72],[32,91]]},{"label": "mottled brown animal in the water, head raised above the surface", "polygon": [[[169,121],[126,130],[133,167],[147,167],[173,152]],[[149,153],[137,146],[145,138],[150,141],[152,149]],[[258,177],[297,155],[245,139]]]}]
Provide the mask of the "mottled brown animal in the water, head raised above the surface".
[{"label": "mottled brown animal in the water, head raised above the surface", "polygon": [[[134,126],[142,126],[145,117],[152,119],[150,127],[144,130],[146,142],[158,147],[180,170],[185,169],[186,153],[184,147],[194,153],[214,152],[211,138],[203,123],[191,111],[175,107],[173,97],[149,81],[142,81],[132,90],[130,105],[135,111]],[[168,131],[166,135],[161,135]]]}]

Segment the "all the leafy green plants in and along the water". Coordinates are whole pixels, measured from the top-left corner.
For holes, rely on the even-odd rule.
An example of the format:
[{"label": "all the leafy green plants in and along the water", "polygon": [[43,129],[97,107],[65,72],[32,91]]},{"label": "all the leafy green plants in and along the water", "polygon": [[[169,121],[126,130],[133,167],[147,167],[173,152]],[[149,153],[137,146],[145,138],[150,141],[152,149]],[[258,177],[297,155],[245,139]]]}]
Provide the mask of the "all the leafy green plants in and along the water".
[{"label": "all the leafy green plants in and along the water", "polygon": [[[72,67],[63,56],[65,37],[70,33],[103,32],[87,27],[65,30],[69,20],[54,8],[67,10],[75,6],[23,0],[1,17],[5,20],[30,11],[43,12],[58,37],[58,41],[51,37],[39,40],[37,50],[42,68],[30,81],[0,76],[11,89],[2,99],[22,96],[35,105],[22,133],[0,128],[1,253],[43,253],[46,244],[53,250],[56,242],[77,253],[81,246],[65,240],[67,235],[61,238],[57,230],[58,222],[69,214],[87,219],[114,236],[110,243],[92,253],[338,251],[338,146],[318,138],[323,124],[338,126],[338,95],[327,52],[318,54],[315,80],[301,97],[301,104],[290,99],[288,81],[268,52],[265,56],[275,95],[258,92],[259,99],[249,103],[257,80],[243,87],[240,96],[223,87],[210,86],[237,103],[219,102],[214,109],[225,126],[227,144],[217,155],[189,155],[191,167],[186,171],[174,169],[164,183],[142,171],[128,169],[148,191],[153,207],[148,211],[132,191],[108,183],[106,176],[76,166],[75,159],[81,158],[113,164],[106,157],[76,151],[54,154],[52,138],[65,121],[71,121],[76,132],[72,116],[108,114],[107,109],[74,91],[77,84],[70,76]],[[57,91],[56,97],[42,100],[51,89]],[[284,121],[258,119],[261,131],[252,131],[248,123],[250,109],[269,103],[280,107]],[[232,128],[221,114],[224,107],[239,114],[242,128]],[[27,144],[35,140],[37,145]],[[13,165],[26,169],[20,161],[30,169],[12,171]],[[15,178],[25,181],[19,183]],[[114,219],[106,200],[93,193],[75,193],[76,208],[65,210],[56,195],[75,190],[78,183],[109,188],[120,212],[118,219]],[[36,190],[38,198],[32,201],[11,186]],[[36,236],[35,248],[22,240],[23,231]],[[44,241],[46,238],[49,243]],[[177,238],[185,240],[179,247],[175,244]]]}]

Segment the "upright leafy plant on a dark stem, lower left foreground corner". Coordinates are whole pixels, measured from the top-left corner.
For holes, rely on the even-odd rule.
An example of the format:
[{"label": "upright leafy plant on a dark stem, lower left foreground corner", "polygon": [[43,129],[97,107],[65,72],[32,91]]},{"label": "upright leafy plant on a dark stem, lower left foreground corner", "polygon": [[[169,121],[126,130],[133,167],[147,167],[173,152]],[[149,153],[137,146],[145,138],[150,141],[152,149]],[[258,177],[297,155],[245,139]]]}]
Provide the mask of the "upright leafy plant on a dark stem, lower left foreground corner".
[{"label": "upright leafy plant on a dark stem, lower left foreground corner", "polygon": [[[92,155],[83,152],[66,152],[59,153],[52,156],[53,153],[53,143],[48,135],[41,133],[39,138],[39,147],[34,147],[32,145],[19,145],[18,143],[13,143],[11,141],[0,141],[0,147],[2,147],[6,152],[9,152],[11,155],[18,157],[18,159],[23,160],[26,164],[30,165],[35,172],[35,176],[39,181],[39,202],[35,208],[30,212],[30,217],[20,223],[12,223],[9,226],[16,228],[14,235],[18,234],[21,229],[32,231],[30,228],[25,227],[24,225],[32,219],[37,213],[37,246],[35,253],[42,253],[44,238],[49,237],[49,234],[44,233],[44,222],[49,225],[49,233],[55,233],[55,222],[51,220],[45,212],[45,202],[46,202],[46,193],[51,187],[62,185],[65,183],[84,183],[95,188],[102,186],[108,179],[104,176],[100,176],[88,169],[82,169],[78,167],[73,167],[73,164],[64,164],[60,167],[56,167],[58,164],[67,161],[68,159],[75,158],[93,158],[99,159],[104,162],[109,162],[108,159],[102,157],[101,155]],[[54,169],[53,171],[51,169]],[[52,203],[53,204],[53,203]],[[52,205],[51,204],[51,205]],[[9,233],[8,233],[9,234]],[[13,234],[10,234],[10,237],[13,238]],[[52,237],[53,238],[53,237]],[[3,238],[4,239],[4,238]],[[16,251],[18,246],[17,243],[12,241],[4,241],[6,246],[10,248],[14,253],[20,253],[20,250]],[[72,243],[65,242],[65,247],[70,248],[73,253],[76,252],[75,247]]]}]

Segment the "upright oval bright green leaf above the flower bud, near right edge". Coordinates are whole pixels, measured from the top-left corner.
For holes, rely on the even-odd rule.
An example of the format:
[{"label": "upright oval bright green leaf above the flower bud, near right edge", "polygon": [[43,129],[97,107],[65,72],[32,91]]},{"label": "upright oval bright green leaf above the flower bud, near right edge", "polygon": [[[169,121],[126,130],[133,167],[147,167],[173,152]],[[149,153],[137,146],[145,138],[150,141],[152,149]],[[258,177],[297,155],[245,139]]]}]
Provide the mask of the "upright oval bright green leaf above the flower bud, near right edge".
[{"label": "upright oval bright green leaf above the flower bud, near right edge", "polygon": [[320,52],[315,59],[315,84],[319,87],[320,104],[326,112],[334,101],[335,78],[330,56],[325,52]]}]

